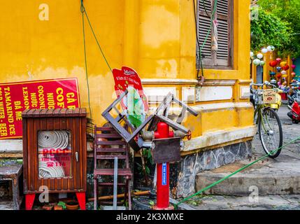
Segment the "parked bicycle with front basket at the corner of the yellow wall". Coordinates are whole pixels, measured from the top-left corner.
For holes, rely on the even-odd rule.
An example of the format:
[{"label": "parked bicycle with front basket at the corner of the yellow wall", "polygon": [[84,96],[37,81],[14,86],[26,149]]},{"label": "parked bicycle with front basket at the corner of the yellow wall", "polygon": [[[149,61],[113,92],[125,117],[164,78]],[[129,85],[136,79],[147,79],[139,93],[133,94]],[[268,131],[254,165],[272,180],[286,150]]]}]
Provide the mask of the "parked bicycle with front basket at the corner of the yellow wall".
[{"label": "parked bicycle with front basket at the corner of the yellow wall", "polygon": [[[252,85],[257,86],[257,89],[251,88],[252,103],[254,104],[253,106],[255,106],[254,119],[257,118],[255,123],[258,129],[259,139],[262,142],[262,148],[264,148],[265,153],[269,154],[283,146],[283,128],[278,114],[271,109],[271,104],[274,103],[272,101],[276,99],[273,99],[274,97],[266,97],[266,90],[264,90],[263,87],[264,85],[266,85],[266,87],[273,87],[273,91],[275,92],[276,90],[278,91],[278,89],[268,81],[262,84],[252,83]],[[281,149],[269,154],[269,157],[277,158],[280,152]]]}]

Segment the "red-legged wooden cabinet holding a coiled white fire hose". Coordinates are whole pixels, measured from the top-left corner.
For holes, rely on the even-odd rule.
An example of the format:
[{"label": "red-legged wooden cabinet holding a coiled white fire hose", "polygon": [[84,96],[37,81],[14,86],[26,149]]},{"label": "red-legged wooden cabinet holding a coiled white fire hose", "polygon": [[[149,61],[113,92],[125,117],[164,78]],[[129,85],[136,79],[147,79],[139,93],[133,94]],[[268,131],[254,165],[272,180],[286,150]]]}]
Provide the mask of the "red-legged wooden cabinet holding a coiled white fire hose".
[{"label": "red-legged wooden cabinet holding a coiled white fire hose", "polygon": [[76,193],[85,209],[87,140],[85,109],[22,112],[24,193],[31,209],[36,193]]}]

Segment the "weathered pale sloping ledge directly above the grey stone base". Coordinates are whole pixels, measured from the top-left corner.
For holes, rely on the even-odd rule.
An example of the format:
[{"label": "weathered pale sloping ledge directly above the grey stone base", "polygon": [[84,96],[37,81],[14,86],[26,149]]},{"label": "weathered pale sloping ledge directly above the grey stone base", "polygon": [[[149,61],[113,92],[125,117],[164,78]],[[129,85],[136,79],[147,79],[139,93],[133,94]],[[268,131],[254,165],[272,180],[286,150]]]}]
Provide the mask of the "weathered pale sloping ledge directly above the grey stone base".
[{"label": "weathered pale sloping ledge directly above the grey stone base", "polygon": [[231,130],[222,130],[217,132],[207,132],[200,137],[194,138],[190,141],[184,141],[183,151],[192,151],[199,148],[206,148],[210,146],[225,144],[230,141],[238,139],[245,139],[253,137],[257,132],[255,125],[243,128],[234,128]]}]

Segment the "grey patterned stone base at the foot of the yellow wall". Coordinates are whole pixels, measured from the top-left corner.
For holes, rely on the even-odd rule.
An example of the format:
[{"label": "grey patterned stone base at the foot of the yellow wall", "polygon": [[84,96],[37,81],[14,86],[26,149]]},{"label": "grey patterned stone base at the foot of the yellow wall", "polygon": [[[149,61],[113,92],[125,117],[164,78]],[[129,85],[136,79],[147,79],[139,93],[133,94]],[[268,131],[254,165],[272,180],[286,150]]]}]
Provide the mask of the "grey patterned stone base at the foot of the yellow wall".
[{"label": "grey patterned stone base at the foot of the yellow wall", "polygon": [[210,151],[187,155],[170,165],[170,188],[173,197],[187,197],[195,193],[196,174],[215,169],[252,156],[252,141],[232,144]]}]

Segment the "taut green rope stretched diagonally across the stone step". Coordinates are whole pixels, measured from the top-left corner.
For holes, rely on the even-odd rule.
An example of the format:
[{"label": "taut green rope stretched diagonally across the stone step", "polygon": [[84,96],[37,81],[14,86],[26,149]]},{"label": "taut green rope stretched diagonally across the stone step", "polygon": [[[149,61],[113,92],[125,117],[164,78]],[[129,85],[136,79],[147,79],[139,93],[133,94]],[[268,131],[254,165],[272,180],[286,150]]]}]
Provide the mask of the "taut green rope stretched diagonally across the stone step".
[{"label": "taut green rope stretched diagonally across the stone step", "polygon": [[278,150],[280,150],[281,148],[284,148],[287,145],[290,145],[292,143],[294,143],[295,141],[300,140],[300,137],[297,137],[297,139],[293,139],[292,141],[288,142],[287,144],[281,146],[280,148],[277,148],[276,150],[271,151],[270,153],[262,156],[261,158],[255,160],[254,162],[249,163],[248,165],[245,165],[244,167],[241,167],[240,169],[236,170],[235,172],[233,172],[232,174],[229,174],[228,176],[225,176],[224,178],[220,179],[219,181],[215,181],[215,183],[210,184],[210,186],[207,186],[206,188],[203,188],[201,190],[199,190],[197,193],[194,193],[194,195],[191,195],[189,197],[185,197],[185,199],[181,200],[180,202],[174,204],[174,208],[177,209],[179,204],[182,204],[183,202],[190,200],[192,197],[199,195],[200,193],[203,193],[204,191],[213,188],[213,186],[216,186],[218,183],[221,183],[222,181],[229,179],[229,177],[234,176],[235,174],[237,174],[238,172],[241,172],[243,169],[246,169],[248,167],[250,167],[251,165],[254,165],[256,162],[259,162],[260,160],[264,160],[264,158],[268,157],[269,155],[276,153]]}]

